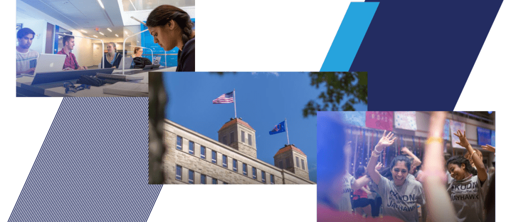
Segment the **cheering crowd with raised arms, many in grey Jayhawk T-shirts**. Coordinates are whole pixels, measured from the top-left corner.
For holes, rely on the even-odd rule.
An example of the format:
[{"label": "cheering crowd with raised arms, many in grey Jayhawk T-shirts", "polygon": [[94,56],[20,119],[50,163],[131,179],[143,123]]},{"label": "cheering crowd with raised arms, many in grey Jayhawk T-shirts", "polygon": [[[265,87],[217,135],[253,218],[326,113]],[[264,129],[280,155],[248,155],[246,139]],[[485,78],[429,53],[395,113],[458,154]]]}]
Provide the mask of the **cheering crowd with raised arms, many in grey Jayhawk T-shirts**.
[{"label": "cheering crowd with raised arms, many in grey Jayhawk T-shirts", "polygon": [[[396,139],[393,133],[384,132],[367,170],[360,166],[355,177],[346,170],[351,143],[332,152],[334,143],[339,147],[344,140],[342,133],[332,135],[340,132],[336,128],[342,129],[338,118],[318,115],[318,125],[320,119],[324,121],[324,127],[318,127],[318,162],[327,161],[321,171],[318,167],[318,221],[495,221],[495,168],[485,169],[481,152],[472,148],[465,132],[454,135],[466,154],[444,154],[441,136],[445,113],[434,112],[431,116],[422,161],[403,147],[401,155],[388,166],[377,163],[383,150]],[[483,149],[495,152],[490,145]],[[339,161],[331,160],[336,158],[344,164],[334,165]],[[421,170],[417,170],[419,165]]]}]

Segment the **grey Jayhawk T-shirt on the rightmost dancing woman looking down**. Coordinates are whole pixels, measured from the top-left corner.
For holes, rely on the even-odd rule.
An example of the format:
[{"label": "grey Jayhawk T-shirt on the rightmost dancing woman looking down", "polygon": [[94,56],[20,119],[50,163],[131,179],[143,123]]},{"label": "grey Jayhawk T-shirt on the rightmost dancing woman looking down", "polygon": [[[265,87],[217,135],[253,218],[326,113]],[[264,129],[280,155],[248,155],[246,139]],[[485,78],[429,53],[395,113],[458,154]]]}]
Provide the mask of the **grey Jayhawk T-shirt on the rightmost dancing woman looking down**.
[{"label": "grey Jayhawk T-shirt on the rightmost dancing woman looking down", "polygon": [[454,212],[458,221],[483,222],[483,189],[478,176],[471,176],[462,181],[453,180],[447,192],[451,196]]}]

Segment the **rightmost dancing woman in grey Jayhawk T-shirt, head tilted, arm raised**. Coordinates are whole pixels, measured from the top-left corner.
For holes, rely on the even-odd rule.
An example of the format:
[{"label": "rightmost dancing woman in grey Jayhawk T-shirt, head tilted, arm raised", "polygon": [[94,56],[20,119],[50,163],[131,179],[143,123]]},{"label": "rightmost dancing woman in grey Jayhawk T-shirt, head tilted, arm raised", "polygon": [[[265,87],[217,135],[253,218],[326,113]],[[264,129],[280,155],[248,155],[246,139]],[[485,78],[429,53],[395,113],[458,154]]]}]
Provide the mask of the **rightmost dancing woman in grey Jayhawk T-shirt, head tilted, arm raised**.
[{"label": "rightmost dancing woman in grey Jayhawk T-shirt, head tilted, arm raised", "polygon": [[454,181],[447,188],[447,193],[451,196],[458,221],[482,222],[484,221],[482,186],[488,175],[484,169],[483,160],[478,155],[473,155],[475,151],[468,143],[465,132],[461,134],[461,131],[458,130],[454,135],[460,138],[460,142],[456,143],[465,147],[468,153],[472,154],[471,158],[477,169],[474,169],[465,157],[449,158],[446,165]]}]

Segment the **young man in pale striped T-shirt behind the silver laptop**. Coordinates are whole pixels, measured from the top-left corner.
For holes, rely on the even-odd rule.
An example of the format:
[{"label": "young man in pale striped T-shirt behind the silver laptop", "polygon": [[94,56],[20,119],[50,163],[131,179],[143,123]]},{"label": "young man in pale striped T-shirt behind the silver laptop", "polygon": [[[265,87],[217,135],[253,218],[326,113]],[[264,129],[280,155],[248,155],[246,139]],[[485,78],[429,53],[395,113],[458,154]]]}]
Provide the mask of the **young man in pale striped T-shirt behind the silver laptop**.
[{"label": "young man in pale striped T-shirt behind the silver laptop", "polygon": [[17,31],[16,75],[22,73],[33,74],[34,70],[36,70],[39,52],[30,49],[34,35],[36,35],[36,33],[29,28],[22,28]]}]

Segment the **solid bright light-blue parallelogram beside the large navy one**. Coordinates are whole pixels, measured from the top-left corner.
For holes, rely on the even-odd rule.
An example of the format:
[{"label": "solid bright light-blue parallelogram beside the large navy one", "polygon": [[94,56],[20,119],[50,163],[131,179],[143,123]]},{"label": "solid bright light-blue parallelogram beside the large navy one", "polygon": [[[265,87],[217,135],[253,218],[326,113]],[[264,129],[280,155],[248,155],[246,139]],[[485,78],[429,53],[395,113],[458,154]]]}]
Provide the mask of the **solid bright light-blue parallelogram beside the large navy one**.
[{"label": "solid bright light-blue parallelogram beside the large navy one", "polygon": [[349,3],[320,71],[349,70],[379,4],[378,2]]}]

